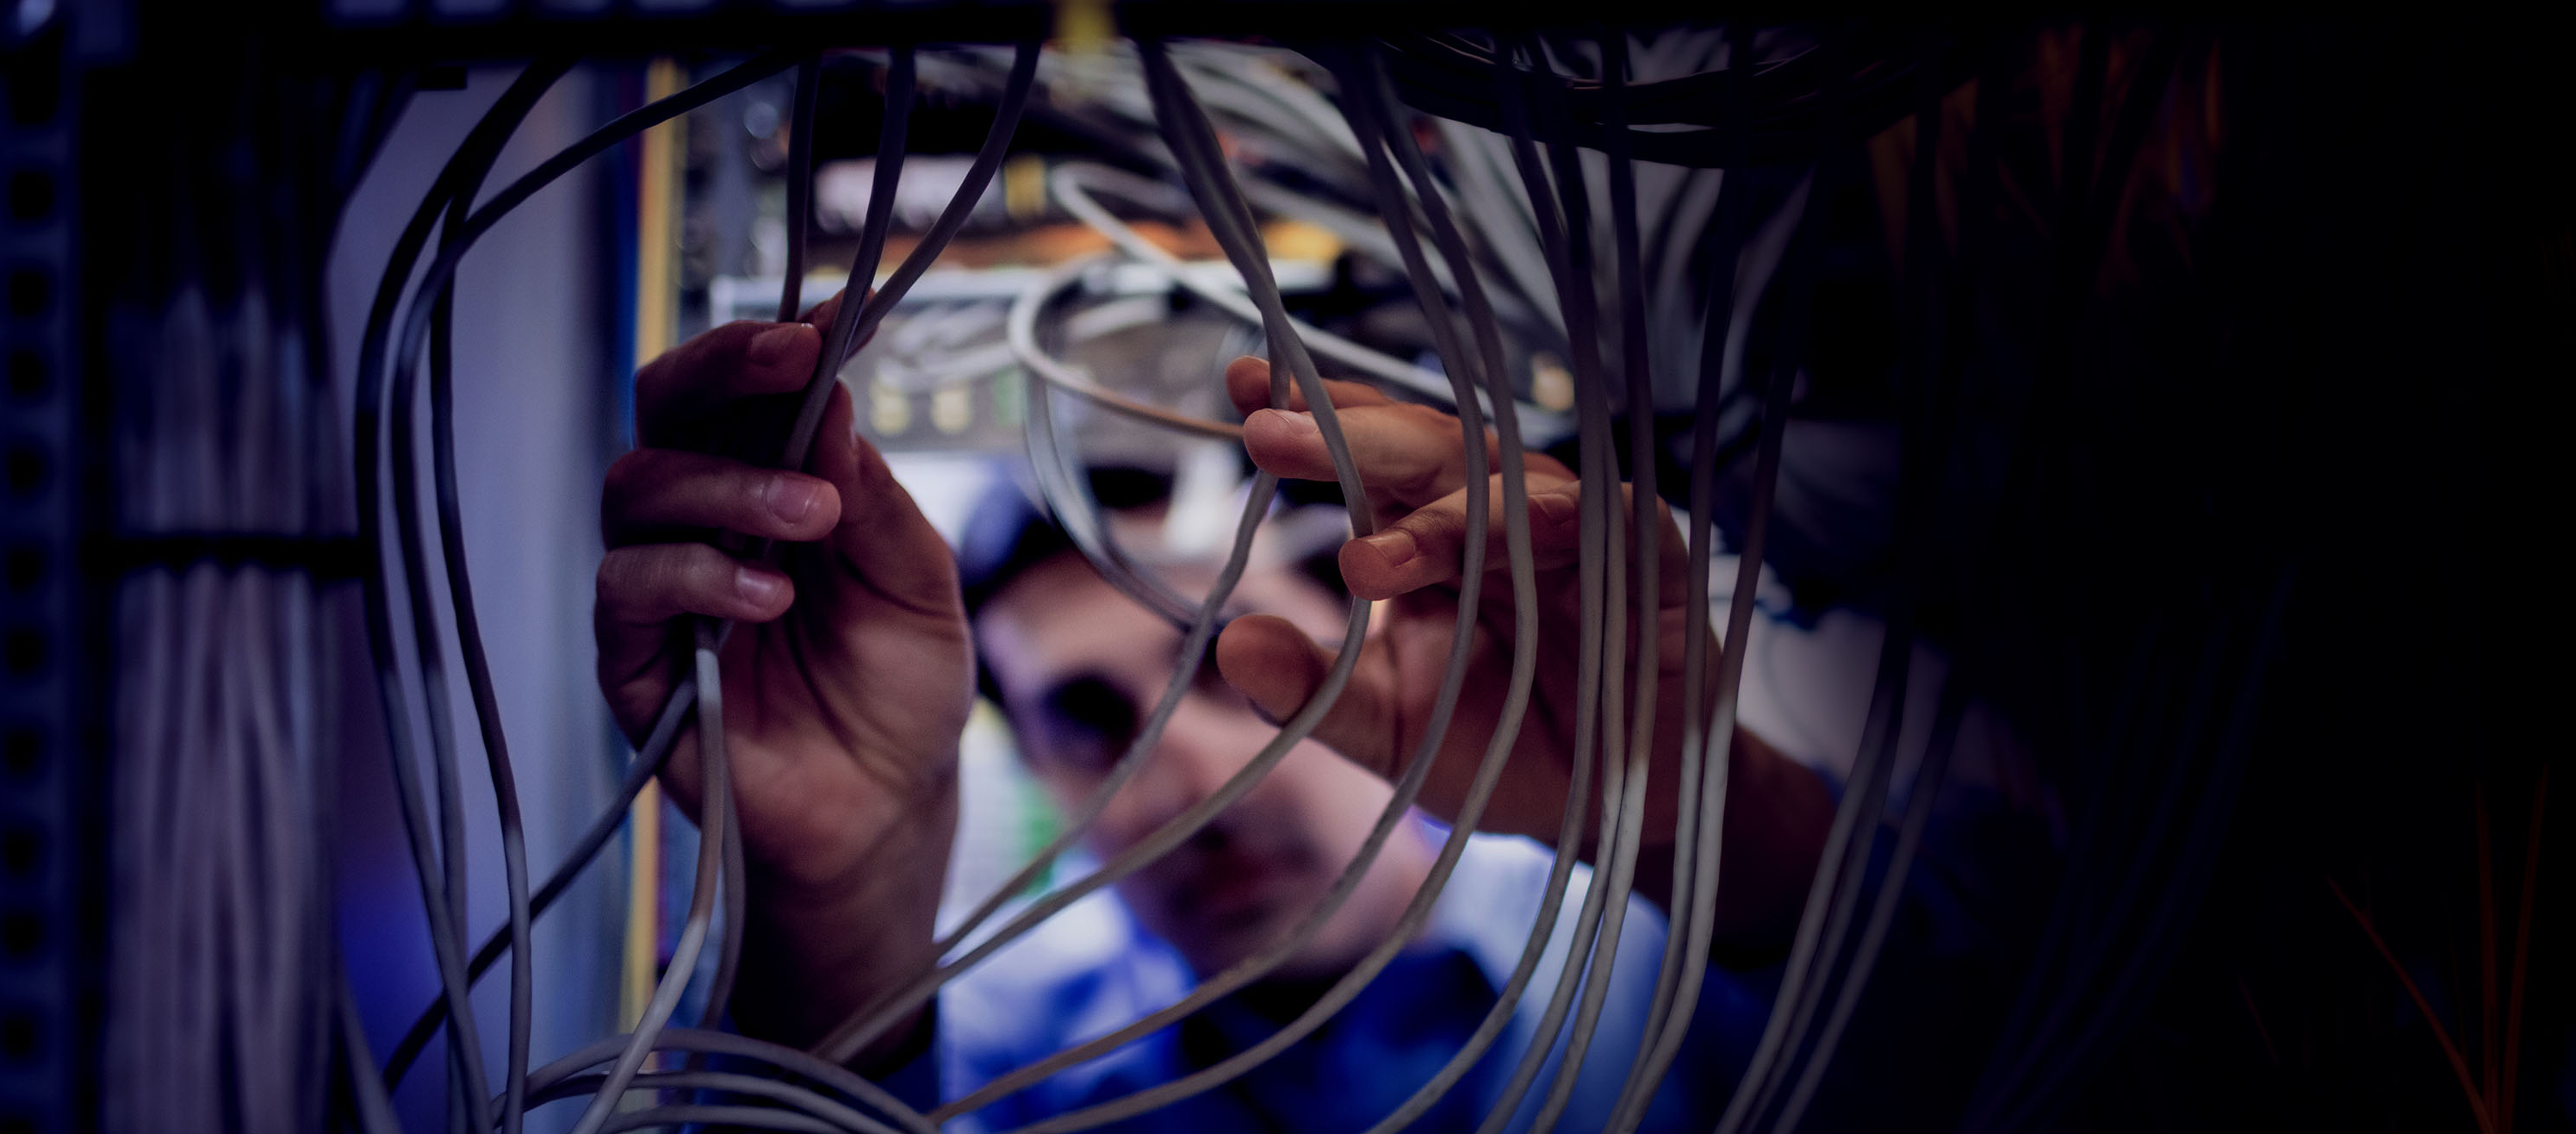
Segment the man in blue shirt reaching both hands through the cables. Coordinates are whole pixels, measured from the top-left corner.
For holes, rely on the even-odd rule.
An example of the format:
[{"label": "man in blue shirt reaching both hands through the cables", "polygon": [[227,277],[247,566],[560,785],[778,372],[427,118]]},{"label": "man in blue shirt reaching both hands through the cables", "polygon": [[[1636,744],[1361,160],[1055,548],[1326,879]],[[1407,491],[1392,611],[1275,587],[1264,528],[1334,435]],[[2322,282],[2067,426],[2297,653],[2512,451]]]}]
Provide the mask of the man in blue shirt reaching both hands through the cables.
[{"label": "man in blue shirt reaching both hands through the cables", "polygon": [[[775,402],[814,369],[832,304],[811,322],[716,327],[639,374],[639,451],[608,477],[600,567],[600,686],[618,722],[641,735],[677,673],[675,629],[690,613],[739,619],[726,647],[726,727],[750,858],[750,918],[737,1023],[783,1044],[811,1044],[853,1010],[930,969],[933,918],[956,830],[956,750],[976,688],[976,657],[1012,722],[1030,771],[1061,802],[1108,773],[1170,680],[1177,631],[1108,588],[1061,549],[1002,554],[1010,570],[976,580],[976,619],[940,536],[853,436],[845,392],[832,394],[811,474],[726,456],[726,436],[775,418]],[[1303,412],[1267,405],[1267,369],[1226,369],[1244,412],[1244,446],[1280,477],[1327,479],[1321,438]],[[1314,740],[1293,750],[1200,835],[1118,887],[1123,910],[1077,905],[1066,923],[953,985],[909,1028],[886,1028],[855,1064],[899,1082],[914,1103],[953,1100],[1010,1067],[1097,1036],[1177,1000],[1278,938],[1316,907],[1391,799],[1386,778],[1412,753],[1455,626],[1463,562],[1463,448],[1455,420],[1334,384],[1334,405],[1381,531],[1342,546],[1358,598],[1386,601],[1358,673]],[[1497,835],[1553,840],[1574,745],[1574,546],[1579,485],[1556,461],[1528,461],[1540,577],[1540,668],[1507,776],[1481,817]],[[1499,510],[1499,492],[1494,492]],[[1656,598],[1662,706],[1656,773],[1672,783],[1680,747],[1682,554],[1662,526]],[[742,533],[791,544],[783,570],[734,559],[706,541]],[[1494,567],[1471,631],[1466,693],[1419,804],[1450,817],[1484,753],[1507,688],[1512,611],[1494,523]],[[1012,539],[1018,544],[1018,539]],[[1087,832],[1115,856],[1206,799],[1319,686],[1340,634],[1334,598],[1285,570],[1244,580],[1213,649],[1216,675],[1190,698],[1136,776]],[[1829,822],[1824,783],[1752,735],[1734,742],[1718,941],[1736,954],[1785,943]],[[696,807],[696,742],[665,781]],[[1649,791],[1638,892],[1669,892],[1672,791]],[[1587,840],[1582,853],[1589,853]],[[1213,1064],[1257,1044],[1386,941],[1430,871],[1435,845],[1399,830],[1350,899],[1265,979],[1131,1049],[999,1098],[979,1121],[1002,1129],[1103,1103]],[[1121,1129],[1360,1129],[1401,1103],[1494,1003],[1538,912],[1546,856],[1481,840],[1461,863],[1422,938],[1332,1026],[1234,1088],[1195,1095]],[[1577,889],[1579,894],[1579,889]],[[1571,902],[1564,912],[1571,923]],[[1561,936],[1566,928],[1558,930]],[[1558,951],[1564,943],[1558,943]],[[1636,1052],[1662,954],[1662,923],[1638,910],[1620,943],[1620,977],[1564,1129],[1597,1129]],[[1561,954],[1558,954],[1561,956]],[[1700,959],[1692,959],[1698,964]],[[1540,990],[1553,972],[1543,969]],[[1530,995],[1510,1041],[1417,1129],[1473,1129],[1499,1093],[1546,995]],[[1741,1059],[1762,997],[1710,979],[1698,1059]],[[1705,1129],[1731,1075],[1677,1077],[1651,1129]],[[1546,1082],[1546,1080],[1543,1080]],[[1533,1093],[1522,1113],[1535,1111]]]}]

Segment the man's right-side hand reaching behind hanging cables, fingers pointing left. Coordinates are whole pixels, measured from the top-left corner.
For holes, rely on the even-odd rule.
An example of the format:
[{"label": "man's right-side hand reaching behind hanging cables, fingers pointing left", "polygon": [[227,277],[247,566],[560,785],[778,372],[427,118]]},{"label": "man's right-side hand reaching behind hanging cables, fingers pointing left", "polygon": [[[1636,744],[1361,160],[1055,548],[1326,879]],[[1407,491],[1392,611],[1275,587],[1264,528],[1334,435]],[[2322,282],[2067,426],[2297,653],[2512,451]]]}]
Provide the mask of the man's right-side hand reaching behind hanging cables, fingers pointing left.
[{"label": "man's right-side hand reaching behind hanging cables, fingers pointing left", "polygon": [[[1422,405],[1391,402],[1370,387],[1327,381],[1332,405],[1378,513],[1378,531],[1342,544],[1342,582],[1352,595],[1386,601],[1386,619],[1360,649],[1360,665],[1332,711],[1316,727],[1316,740],[1342,755],[1394,776],[1422,742],[1450,642],[1458,634],[1458,577],[1466,564],[1466,438],[1458,420]],[[1291,387],[1293,389],[1293,387]],[[1257,466],[1280,477],[1332,479],[1332,459],[1303,394],[1288,410],[1270,410],[1270,366],[1239,358],[1226,369],[1226,392],[1244,412],[1244,451]],[[1499,454],[1486,438],[1489,464]],[[1522,461],[1530,490],[1530,552],[1538,570],[1538,673],[1520,742],[1479,820],[1481,830],[1530,835],[1553,843],[1571,789],[1577,642],[1582,626],[1579,503],[1582,482],[1556,459],[1530,454]],[[1455,817],[1476,765],[1494,737],[1502,698],[1512,678],[1512,585],[1504,554],[1504,500],[1499,469],[1486,485],[1486,580],[1479,611],[1468,626],[1476,644],[1440,755],[1422,786],[1422,807]],[[1628,510],[1623,495],[1615,508]],[[1631,546],[1654,546],[1659,593],[1651,595],[1656,626],[1656,665],[1651,675],[1631,673],[1628,683],[1656,680],[1654,771],[1646,791],[1646,853],[1638,861],[1638,889],[1669,889],[1669,858],[1677,817],[1682,747],[1682,647],[1687,644],[1685,606],[1690,601],[1687,557],[1672,513],[1656,503],[1654,533]],[[1718,657],[1710,639],[1710,660]],[[1216,662],[1226,680],[1262,711],[1288,716],[1324,680],[1332,652],[1311,642],[1285,619],[1236,619],[1216,642]],[[1710,665],[1716,670],[1716,665]],[[1713,688],[1703,691],[1703,719]],[[1625,714],[1631,706],[1605,704]],[[1615,753],[1625,758],[1625,753]],[[1736,732],[1728,763],[1728,807],[1718,933],[1736,941],[1767,941],[1795,920],[1814,874],[1824,830],[1832,817],[1824,786],[1749,732]],[[1597,827],[1597,809],[1587,817]]]}]

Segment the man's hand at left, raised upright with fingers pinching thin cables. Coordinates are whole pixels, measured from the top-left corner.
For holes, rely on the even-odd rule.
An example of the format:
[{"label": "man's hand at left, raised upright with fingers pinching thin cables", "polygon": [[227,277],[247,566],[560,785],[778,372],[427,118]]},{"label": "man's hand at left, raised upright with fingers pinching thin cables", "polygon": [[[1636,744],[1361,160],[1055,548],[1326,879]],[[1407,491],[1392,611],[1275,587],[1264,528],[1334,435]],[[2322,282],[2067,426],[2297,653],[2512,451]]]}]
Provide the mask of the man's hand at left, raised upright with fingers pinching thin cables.
[{"label": "man's hand at left, raised upright with fingers pinching thin cables", "polygon": [[[636,374],[641,448],[608,469],[600,691],[641,740],[688,670],[690,616],[734,619],[726,753],[752,918],[737,1015],[801,1044],[930,961],[974,655],[948,544],[832,389],[809,472],[778,448],[840,299],[732,322]],[[783,546],[778,567],[739,554]],[[662,773],[698,807],[698,742]],[[796,992],[788,992],[796,990]]]}]

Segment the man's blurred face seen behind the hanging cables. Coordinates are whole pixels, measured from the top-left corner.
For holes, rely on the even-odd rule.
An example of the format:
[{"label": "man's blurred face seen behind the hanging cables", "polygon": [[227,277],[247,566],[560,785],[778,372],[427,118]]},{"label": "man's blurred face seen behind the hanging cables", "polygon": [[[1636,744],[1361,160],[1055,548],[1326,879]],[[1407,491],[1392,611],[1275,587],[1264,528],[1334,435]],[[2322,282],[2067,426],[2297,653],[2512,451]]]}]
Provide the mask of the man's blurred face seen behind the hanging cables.
[{"label": "man's blurred face seen behind the hanging cables", "polygon": [[[1321,642],[1345,608],[1311,580],[1275,567],[1236,588],[1244,611],[1278,613]],[[1100,580],[1066,552],[1020,572],[976,619],[976,642],[1002,693],[1028,768],[1066,812],[1092,796],[1139,735],[1182,631]],[[1213,649],[1144,768],[1087,832],[1100,858],[1141,843],[1216,794],[1278,735],[1216,675]],[[1314,910],[1391,799],[1386,781],[1329,747],[1301,742],[1195,838],[1118,884],[1136,918],[1200,974],[1249,956]],[[1350,902],[1278,977],[1329,977],[1386,938],[1430,869],[1404,825]]]}]

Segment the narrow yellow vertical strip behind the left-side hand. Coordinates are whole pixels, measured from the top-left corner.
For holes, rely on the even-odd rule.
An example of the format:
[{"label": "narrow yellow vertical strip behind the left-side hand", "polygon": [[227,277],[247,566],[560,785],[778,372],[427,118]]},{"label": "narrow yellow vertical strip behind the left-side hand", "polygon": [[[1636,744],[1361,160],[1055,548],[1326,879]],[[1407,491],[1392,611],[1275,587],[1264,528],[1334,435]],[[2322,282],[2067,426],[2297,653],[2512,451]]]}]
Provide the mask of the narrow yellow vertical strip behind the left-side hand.
[{"label": "narrow yellow vertical strip behind the left-side hand", "polygon": [[[680,93],[680,64],[654,59],[644,72],[644,101]],[[636,162],[636,361],[657,358],[677,338],[680,281],[672,198],[680,183],[685,116],[644,131]],[[626,809],[626,961],[618,982],[618,1031],[634,1031],[662,969],[662,783],[644,783]]]}]

